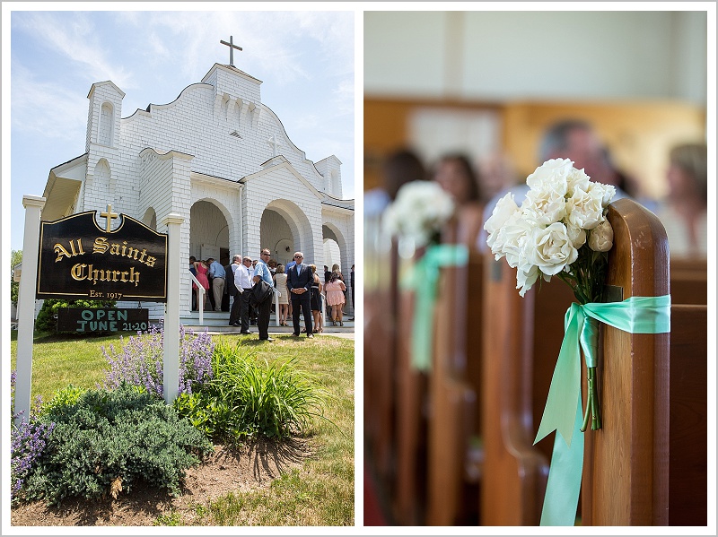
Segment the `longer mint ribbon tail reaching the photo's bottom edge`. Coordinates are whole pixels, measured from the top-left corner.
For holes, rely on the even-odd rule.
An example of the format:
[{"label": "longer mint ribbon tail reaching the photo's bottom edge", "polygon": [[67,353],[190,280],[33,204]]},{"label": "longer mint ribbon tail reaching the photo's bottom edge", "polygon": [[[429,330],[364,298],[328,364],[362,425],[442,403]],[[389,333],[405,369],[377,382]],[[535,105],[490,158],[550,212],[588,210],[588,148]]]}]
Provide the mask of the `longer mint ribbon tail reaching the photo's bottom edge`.
[{"label": "longer mint ribbon tail reaching the photo's bottom edge", "polygon": [[548,470],[546,497],[541,511],[542,526],[573,526],[583,469],[582,402],[579,397],[574,420],[574,441],[567,445],[556,434],[551,466]]}]

